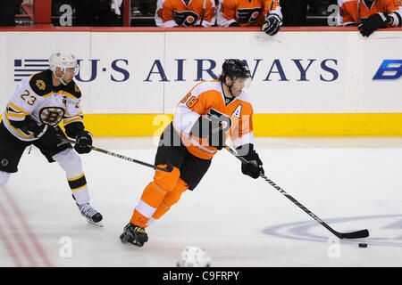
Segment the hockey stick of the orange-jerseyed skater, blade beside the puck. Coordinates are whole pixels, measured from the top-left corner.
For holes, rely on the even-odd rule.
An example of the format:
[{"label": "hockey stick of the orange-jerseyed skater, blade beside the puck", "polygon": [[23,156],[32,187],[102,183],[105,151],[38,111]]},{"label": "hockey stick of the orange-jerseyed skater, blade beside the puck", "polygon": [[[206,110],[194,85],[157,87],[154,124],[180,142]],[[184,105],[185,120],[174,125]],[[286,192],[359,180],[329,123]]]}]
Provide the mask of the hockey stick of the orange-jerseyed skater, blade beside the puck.
[{"label": "hockey stick of the orange-jerseyed skater, blade beside the puck", "polygon": [[[239,157],[238,154],[236,153],[236,151],[233,151],[232,149],[230,149],[229,146],[226,146],[225,149],[227,151],[229,151],[232,155],[234,155],[236,158],[238,158],[242,163],[248,164],[250,162],[248,162],[246,159]],[[324,228],[326,228],[328,231],[332,232],[333,234],[335,234],[339,239],[361,239],[361,238],[366,238],[369,236],[369,232],[365,229],[365,230],[361,230],[361,231],[356,231],[356,232],[337,232],[334,229],[331,228],[331,226],[329,226],[328,224],[326,224],[325,222],[322,221],[322,219],[320,219],[318,216],[315,216],[313,214],[312,211],[310,211],[308,208],[306,208],[305,206],[303,206],[302,204],[300,204],[300,202],[297,201],[297,199],[294,199],[292,196],[290,196],[286,191],[284,191],[283,189],[281,189],[280,186],[278,186],[276,183],[273,183],[271,179],[269,179],[267,176],[265,176],[264,174],[260,174],[260,177],[264,178],[264,180],[267,183],[270,183],[270,185],[272,185],[273,188],[275,188],[276,190],[280,191],[283,195],[286,196],[286,198],[288,198],[289,200],[291,200],[294,204],[297,205],[298,208],[301,208],[303,211],[306,212],[306,214],[308,216],[311,216],[312,218],[314,218],[314,220],[316,222],[318,222],[319,224],[321,224]]]}]

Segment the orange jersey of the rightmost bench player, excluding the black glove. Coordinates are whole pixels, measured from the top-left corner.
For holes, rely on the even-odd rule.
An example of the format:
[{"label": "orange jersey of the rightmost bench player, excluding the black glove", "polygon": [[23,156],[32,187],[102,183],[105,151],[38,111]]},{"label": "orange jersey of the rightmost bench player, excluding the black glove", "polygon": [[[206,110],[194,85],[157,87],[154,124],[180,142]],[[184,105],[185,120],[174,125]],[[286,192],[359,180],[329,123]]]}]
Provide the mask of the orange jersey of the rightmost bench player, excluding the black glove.
[{"label": "orange jersey of the rightmost bench player, excluding the black glove", "polygon": [[[338,0],[340,7],[340,23],[344,26],[359,23],[359,9],[357,0]],[[378,12],[387,13],[394,18],[392,26],[400,26],[402,23],[401,0],[375,0],[373,4],[360,1],[360,18],[366,19]]]}]

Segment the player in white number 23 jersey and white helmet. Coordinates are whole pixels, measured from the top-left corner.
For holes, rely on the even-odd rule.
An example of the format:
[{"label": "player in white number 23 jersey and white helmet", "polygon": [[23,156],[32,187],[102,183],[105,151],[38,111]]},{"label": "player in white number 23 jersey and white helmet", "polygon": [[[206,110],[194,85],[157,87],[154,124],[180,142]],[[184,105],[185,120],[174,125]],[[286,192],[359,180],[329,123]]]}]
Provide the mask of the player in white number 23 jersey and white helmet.
[{"label": "player in white number 23 jersey and white helmet", "polygon": [[[21,80],[7,103],[0,124],[0,186],[18,171],[23,151],[33,144],[49,162],[57,161],[66,173],[72,197],[90,224],[102,226],[102,215],[89,204],[88,185],[80,154],[91,151],[92,135],[85,130],[80,108],[77,60],[69,52],[55,51],[49,69]],[[65,134],[76,139],[72,149]]]}]

